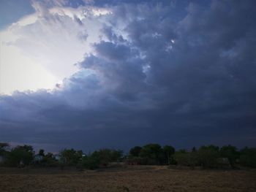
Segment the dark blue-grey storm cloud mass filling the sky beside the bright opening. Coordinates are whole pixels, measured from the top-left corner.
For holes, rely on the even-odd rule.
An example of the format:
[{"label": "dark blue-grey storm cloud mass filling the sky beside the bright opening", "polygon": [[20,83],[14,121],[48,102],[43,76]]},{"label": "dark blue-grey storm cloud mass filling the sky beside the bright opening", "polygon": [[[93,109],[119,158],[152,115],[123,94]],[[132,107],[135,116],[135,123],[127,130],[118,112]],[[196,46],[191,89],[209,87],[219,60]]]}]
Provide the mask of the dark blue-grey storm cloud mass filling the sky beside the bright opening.
[{"label": "dark blue-grey storm cloud mass filling the sky beside the bright opening", "polygon": [[0,139],[255,145],[255,1],[186,3],[111,4],[106,39],[63,88],[1,96]]}]

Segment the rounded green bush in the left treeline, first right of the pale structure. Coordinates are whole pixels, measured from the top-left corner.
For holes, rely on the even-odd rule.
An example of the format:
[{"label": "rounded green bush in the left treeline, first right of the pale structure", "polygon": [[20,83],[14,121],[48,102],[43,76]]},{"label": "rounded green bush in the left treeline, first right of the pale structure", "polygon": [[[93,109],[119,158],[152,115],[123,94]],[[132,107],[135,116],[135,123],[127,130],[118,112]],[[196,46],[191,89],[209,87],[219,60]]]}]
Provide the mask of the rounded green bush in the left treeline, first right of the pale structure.
[{"label": "rounded green bush in the left treeline, first right of the pale structure", "polygon": [[74,149],[64,149],[60,152],[61,162],[67,166],[75,166],[82,161],[83,151]]}]

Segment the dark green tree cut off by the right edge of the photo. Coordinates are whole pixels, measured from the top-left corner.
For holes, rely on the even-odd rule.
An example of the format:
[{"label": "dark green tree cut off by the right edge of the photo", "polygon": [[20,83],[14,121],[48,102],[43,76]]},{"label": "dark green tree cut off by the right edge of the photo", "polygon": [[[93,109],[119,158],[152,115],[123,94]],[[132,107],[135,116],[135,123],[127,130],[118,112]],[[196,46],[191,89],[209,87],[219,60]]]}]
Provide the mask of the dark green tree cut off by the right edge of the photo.
[{"label": "dark green tree cut off by the right edge of the photo", "polygon": [[240,153],[239,161],[241,165],[256,168],[256,148],[244,147]]}]

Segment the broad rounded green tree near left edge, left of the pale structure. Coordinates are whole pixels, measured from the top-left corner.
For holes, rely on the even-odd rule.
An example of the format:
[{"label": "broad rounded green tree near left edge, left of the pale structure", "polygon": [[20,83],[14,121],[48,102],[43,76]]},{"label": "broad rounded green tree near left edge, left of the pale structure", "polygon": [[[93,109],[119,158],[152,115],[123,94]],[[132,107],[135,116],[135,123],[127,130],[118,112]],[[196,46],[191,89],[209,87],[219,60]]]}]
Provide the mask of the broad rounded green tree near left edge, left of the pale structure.
[{"label": "broad rounded green tree near left edge, left of the pale structure", "polygon": [[7,155],[7,164],[10,166],[29,165],[34,159],[34,150],[30,145],[17,146]]}]

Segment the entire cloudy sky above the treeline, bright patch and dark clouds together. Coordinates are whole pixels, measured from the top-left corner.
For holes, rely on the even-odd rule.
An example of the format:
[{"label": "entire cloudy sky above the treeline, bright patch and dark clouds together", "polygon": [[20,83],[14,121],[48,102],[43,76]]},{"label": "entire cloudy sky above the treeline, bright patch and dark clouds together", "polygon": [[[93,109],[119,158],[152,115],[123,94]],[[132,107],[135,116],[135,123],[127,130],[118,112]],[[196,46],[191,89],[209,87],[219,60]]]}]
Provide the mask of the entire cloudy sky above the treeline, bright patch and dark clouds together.
[{"label": "entire cloudy sky above the treeline, bright patch and dark clouds together", "polygon": [[0,142],[256,147],[255,6],[0,0]]}]

